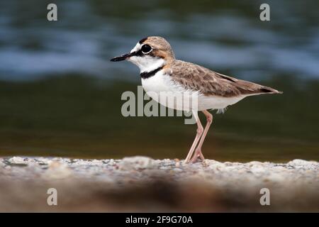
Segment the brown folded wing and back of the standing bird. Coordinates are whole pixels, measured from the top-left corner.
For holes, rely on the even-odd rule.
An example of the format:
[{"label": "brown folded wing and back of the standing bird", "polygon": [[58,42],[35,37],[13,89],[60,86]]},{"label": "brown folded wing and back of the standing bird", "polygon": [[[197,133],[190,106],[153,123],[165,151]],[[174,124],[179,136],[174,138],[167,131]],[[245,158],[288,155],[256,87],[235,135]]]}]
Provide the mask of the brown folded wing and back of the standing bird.
[{"label": "brown folded wing and back of the standing bird", "polygon": [[228,77],[205,67],[181,60],[172,62],[172,72],[170,74],[176,82],[179,82],[187,89],[199,90],[206,95],[231,97],[240,94],[280,93],[270,87]]}]

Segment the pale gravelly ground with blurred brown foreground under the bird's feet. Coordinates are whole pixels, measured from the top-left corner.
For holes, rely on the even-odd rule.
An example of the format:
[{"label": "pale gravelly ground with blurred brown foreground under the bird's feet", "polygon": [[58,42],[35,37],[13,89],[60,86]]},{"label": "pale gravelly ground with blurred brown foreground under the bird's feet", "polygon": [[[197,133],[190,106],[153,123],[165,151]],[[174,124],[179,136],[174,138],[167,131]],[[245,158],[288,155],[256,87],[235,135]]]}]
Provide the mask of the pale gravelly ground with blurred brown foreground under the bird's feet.
[{"label": "pale gravelly ground with blurred brown foreground under the bird's feet", "polygon": [[[0,211],[319,211],[319,163],[306,160],[4,157],[0,183]],[[57,206],[47,205],[52,187]]]}]

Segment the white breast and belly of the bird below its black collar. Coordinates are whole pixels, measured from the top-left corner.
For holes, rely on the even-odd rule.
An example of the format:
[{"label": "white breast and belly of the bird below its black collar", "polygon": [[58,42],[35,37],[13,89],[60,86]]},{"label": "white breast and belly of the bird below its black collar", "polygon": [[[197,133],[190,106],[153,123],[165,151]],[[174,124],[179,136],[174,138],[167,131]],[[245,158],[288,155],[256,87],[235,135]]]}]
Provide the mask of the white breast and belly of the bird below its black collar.
[{"label": "white breast and belly of the bird below its black collar", "polygon": [[245,96],[230,98],[204,96],[200,92],[184,89],[180,84],[174,82],[169,75],[163,74],[162,70],[152,77],[142,79],[142,87],[146,94],[159,104],[182,111],[224,109],[226,106],[233,105],[245,98]]}]

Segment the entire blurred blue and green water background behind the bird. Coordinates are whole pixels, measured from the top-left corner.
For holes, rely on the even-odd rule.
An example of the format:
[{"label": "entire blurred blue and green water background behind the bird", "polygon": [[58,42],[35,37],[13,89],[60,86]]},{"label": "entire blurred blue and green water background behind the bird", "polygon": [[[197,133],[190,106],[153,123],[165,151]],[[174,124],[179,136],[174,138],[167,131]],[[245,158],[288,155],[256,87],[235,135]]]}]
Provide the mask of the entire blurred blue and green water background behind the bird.
[{"label": "entire blurred blue and green water background behind the bird", "polygon": [[203,153],[230,161],[319,160],[319,1],[0,2],[0,155],[184,158],[196,126],[121,115],[138,67],[109,59],[141,38],[177,58],[284,91],[215,115]]}]

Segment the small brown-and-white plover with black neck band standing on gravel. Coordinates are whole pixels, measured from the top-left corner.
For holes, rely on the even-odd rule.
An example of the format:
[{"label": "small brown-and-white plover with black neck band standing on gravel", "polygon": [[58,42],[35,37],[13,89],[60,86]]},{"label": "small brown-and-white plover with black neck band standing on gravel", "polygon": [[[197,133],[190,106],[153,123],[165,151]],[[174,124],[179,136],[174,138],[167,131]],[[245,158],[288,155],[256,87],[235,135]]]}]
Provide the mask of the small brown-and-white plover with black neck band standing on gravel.
[{"label": "small brown-and-white plover with black neck band standing on gravel", "polygon": [[[204,160],[201,147],[213,121],[208,110],[218,109],[218,112],[223,112],[227,106],[246,96],[282,93],[271,87],[228,77],[191,62],[177,60],[171,45],[158,36],[143,38],[129,53],[111,59],[112,62],[122,60],[133,62],[140,68],[142,87],[155,101],[159,101],[155,94],[161,92],[170,92],[167,93],[169,95],[193,92],[192,94],[196,95],[197,106],[191,111],[196,119],[197,133],[185,159],[186,163],[196,162],[198,157]],[[189,110],[169,106],[161,101],[159,103],[173,109]],[[206,116],[205,128],[198,118],[198,111],[202,111]]]}]

